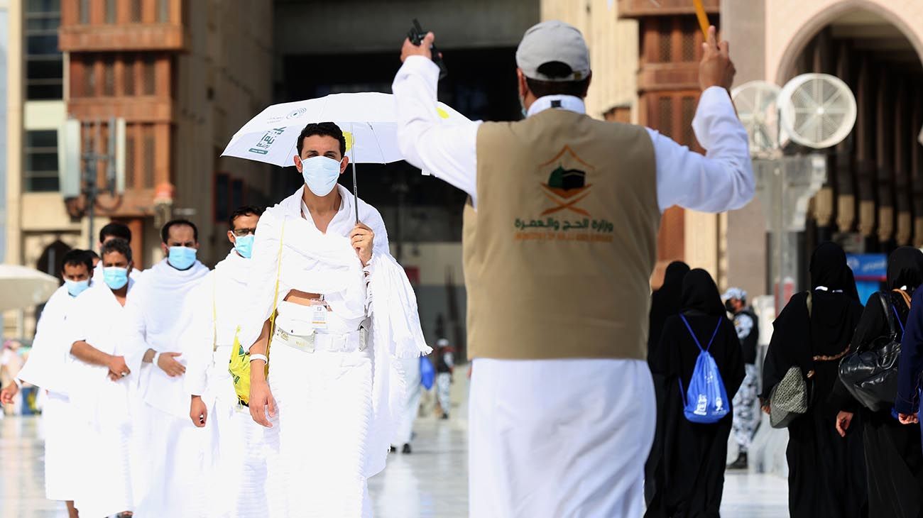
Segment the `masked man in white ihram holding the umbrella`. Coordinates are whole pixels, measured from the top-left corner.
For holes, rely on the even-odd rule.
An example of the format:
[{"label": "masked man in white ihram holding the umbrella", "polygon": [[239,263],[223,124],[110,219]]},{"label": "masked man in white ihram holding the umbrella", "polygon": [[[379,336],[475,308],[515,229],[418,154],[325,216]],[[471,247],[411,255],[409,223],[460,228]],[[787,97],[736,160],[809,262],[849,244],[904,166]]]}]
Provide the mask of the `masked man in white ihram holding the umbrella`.
[{"label": "masked man in white ihram holding the umbrella", "polygon": [[365,518],[367,479],[384,468],[401,417],[398,360],[430,348],[381,215],[358,200],[357,222],[353,195],[337,184],[348,164],[342,130],[307,124],[296,149],[305,185],[263,213],[253,247],[253,306],[239,334],[250,415],[269,429],[272,518]]}]

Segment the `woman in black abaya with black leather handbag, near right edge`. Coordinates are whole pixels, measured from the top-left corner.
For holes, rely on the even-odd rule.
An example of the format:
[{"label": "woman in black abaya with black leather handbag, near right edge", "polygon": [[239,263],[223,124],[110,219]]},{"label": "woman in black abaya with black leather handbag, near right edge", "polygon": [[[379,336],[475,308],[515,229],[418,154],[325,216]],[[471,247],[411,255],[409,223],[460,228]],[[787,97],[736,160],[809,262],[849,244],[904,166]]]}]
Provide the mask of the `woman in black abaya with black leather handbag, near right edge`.
[{"label": "woman in black abaya with black leather handbag, near right edge", "polygon": [[[920,284],[923,284],[923,253],[909,246],[891,253],[885,301],[898,333],[906,325],[910,312],[907,300]],[[881,307],[881,295],[875,293],[869,298],[859,319],[850,352],[864,349],[879,336],[890,334],[888,320]],[[837,431],[845,436],[857,426],[861,427],[869,480],[869,516],[923,517],[920,505],[923,496],[923,451],[920,448],[919,424],[902,425],[893,417],[891,405],[872,412],[853,399],[842,383],[838,384],[835,394],[842,410],[835,421]]]}]

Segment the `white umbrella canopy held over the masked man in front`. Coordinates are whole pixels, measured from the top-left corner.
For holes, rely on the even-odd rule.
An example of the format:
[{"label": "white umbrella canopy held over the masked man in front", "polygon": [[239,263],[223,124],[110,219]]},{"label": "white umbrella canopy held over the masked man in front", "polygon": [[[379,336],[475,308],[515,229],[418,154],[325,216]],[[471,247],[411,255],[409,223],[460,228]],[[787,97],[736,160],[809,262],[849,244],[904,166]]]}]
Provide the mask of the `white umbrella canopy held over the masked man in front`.
[{"label": "white umbrella canopy held over the masked man in front", "polygon": [[[441,102],[433,110],[444,124],[468,121]],[[222,157],[293,166],[301,130],[306,124],[327,121],[342,129],[346,154],[352,161],[385,164],[403,159],[394,96],[378,92],[338,93],[272,105],[234,134]]]}]

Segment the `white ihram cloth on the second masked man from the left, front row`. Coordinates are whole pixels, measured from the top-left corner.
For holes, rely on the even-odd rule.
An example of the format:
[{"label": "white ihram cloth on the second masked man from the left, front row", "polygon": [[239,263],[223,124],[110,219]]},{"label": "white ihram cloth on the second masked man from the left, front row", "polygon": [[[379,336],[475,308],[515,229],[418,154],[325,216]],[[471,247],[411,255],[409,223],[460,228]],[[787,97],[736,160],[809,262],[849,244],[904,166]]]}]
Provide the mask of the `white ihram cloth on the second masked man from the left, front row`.
[{"label": "white ihram cloth on the second masked man from the left, front row", "polygon": [[[135,281],[128,281],[128,298]],[[85,341],[106,354],[126,356],[126,310],[108,286],[94,285],[80,294],[68,319],[70,341]],[[132,401],[138,371],[113,382],[109,370],[72,357],[71,402],[81,418],[75,434],[81,437],[82,483],[74,504],[83,516],[110,516],[135,508],[130,467]]]}]

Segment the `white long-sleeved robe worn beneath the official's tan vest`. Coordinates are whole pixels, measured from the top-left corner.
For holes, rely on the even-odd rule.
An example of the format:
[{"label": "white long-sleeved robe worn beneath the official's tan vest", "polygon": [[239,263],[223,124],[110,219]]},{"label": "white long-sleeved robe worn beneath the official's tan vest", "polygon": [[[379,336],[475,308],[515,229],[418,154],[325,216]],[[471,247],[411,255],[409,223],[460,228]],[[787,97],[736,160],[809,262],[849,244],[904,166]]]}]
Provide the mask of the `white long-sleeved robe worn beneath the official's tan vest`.
[{"label": "white long-sleeved robe worn beneath the official's tan vest", "polygon": [[[391,86],[398,144],[408,162],[462,189],[476,207],[480,123],[438,124],[438,75],[438,66],[423,56],[410,56],[398,71]],[[557,95],[535,100],[528,116],[553,105],[585,112],[580,98]],[[722,212],[747,205],[754,190],[748,136],[724,88],[702,91],[692,129],[708,149],[704,156],[647,128],[661,211],[677,205]],[[618,150],[612,153],[617,160]],[[652,442],[652,398],[643,361],[475,359],[468,429],[471,516],[640,515],[642,489],[635,481]],[[571,407],[611,413],[583,415]],[[518,423],[514,433],[500,427],[498,413],[515,417],[509,421]],[[587,460],[576,462],[578,454]],[[571,489],[573,481],[581,487]]]}]

